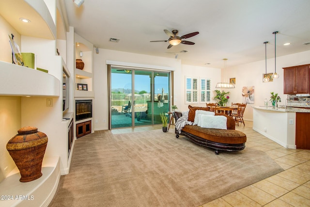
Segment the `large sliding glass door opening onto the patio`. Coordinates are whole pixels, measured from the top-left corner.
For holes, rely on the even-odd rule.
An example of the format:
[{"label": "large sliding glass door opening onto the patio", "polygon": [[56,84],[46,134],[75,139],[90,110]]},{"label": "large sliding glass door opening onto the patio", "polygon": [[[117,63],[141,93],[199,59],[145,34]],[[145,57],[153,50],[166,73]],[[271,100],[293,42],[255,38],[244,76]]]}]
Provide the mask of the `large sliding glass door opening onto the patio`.
[{"label": "large sliding glass door opening onto the patio", "polygon": [[170,73],[111,67],[110,128],[161,124],[170,109]]}]

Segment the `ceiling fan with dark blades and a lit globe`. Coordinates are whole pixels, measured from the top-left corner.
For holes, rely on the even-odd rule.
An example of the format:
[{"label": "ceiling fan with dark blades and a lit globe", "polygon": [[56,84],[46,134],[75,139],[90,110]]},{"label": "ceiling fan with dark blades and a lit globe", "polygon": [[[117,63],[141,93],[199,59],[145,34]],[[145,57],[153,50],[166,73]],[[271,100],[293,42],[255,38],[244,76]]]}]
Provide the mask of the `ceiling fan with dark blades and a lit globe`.
[{"label": "ceiling fan with dark blades and a lit globe", "polygon": [[169,36],[168,40],[156,40],[156,41],[150,41],[150,42],[169,42],[170,45],[168,46],[168,49],[171,48],[172,46],[179,45],[180,43],[186,44],[186,45],[195,45],[195,43],[189,42],[183,39],[199,34],[199,32],[192,32],[192,33],[189,33],[189,34],[186,34],[180,37],[180,36],[177,36],[179,32],[177,30],[172,30],[172,32],[168,30],[164,30],[164,32]]}]

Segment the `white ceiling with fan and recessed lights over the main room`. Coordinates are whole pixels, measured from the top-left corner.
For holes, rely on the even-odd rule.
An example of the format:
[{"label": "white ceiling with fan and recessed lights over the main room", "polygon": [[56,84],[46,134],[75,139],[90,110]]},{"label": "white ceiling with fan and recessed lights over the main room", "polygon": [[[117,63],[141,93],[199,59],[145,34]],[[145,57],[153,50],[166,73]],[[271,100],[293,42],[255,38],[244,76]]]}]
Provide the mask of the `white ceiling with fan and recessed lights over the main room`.
[{"label": "white ceiling with fan and recessed lights over the main room", "polygon": [[[94,47],[178,59],[223,68],[310,50],[310,0],[64,0],[69,25]],[[164,30],[195,45],[168,49]],[[118,43],[110,38],[120,39]],[[284,43],[291,45],[283,46]],[[181,53],[182,50],[188,52]]]}]

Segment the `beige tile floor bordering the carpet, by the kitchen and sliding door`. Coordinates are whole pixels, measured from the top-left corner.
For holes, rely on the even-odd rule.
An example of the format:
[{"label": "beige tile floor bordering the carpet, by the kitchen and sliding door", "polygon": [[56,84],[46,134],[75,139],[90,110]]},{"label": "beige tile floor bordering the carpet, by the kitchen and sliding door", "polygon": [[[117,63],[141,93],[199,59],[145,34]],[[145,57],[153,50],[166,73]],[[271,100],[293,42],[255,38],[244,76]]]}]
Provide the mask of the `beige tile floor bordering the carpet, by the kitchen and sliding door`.
[{"label": "beige tile floor bordering the carpet, by the kitchen and sliding door", "polygon": [[[266,152],[284,171],[200,207],[310,207],[310,150],[286,149],[254,131],[252,122],[245,124],[236,126],[236,130],[247,135],[246,147]],[[112,133],[160,128],[161,125],[121,128],[113,129]]]}]

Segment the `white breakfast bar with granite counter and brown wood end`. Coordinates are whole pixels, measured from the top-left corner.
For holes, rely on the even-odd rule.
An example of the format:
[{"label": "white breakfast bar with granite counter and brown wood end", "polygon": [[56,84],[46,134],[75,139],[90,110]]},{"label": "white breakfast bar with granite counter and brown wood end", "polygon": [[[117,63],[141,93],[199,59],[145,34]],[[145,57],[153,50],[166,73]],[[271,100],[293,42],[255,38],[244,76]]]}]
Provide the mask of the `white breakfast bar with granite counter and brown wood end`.
[{"label": "white breakfast bar with granite counter and brown wood end", "polygon": [[[305,120],[299,120],[299,114],[310,117],[310,109],[282,107],[275,108],[264,106],[252,106],[253,108],[253,130],[263,136],[290,149],[307,149],[310,144],[309,138],[303,127]],[[304,119],[304,118],[303,118]],[[308,119],[308,118],[306,118]],[[299,133],[302,135],[299,136]],[[309,133],[309,132],[306,132]],[[297,135],[297,136],[296,136]],[[303,138],[305,136],[305,138]],[[296,140],[297,137],[297,140]],[[301,145],[298,146],[298,142]]]}]

